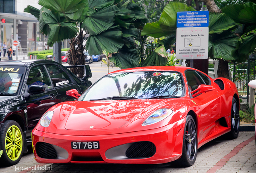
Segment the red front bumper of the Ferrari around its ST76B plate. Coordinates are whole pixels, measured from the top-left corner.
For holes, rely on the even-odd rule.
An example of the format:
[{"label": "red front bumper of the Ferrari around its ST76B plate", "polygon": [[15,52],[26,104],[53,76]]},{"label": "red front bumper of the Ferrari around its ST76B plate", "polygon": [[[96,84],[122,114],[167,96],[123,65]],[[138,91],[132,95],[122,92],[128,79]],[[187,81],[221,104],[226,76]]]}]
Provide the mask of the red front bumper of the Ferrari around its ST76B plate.
[{"label": "red front bumper of the Ferrari around its ST76B plate", "polygon": [[[182,155],[185,121],[186,119],[182,119],[165,127],[147,131],[96,136],[58,135],[34,129],[32,139],[35,160],[39,163],[167,163],[179,159]],[[72,149],[71,142],[74,141],[99,141],[99,149]],[[148,158],[127,158],[125,153],[130,144],[142,141],[152,142],[155,145],[155,154]],[[58,157],[55,159],[39,157],[38,142],[54,146]],[[128,147],[125,147],[126,145]],[[42,152],[41,150],[39,152]],[[46,147],[43,152],[49,152],[48,150],[50,148]]]}]

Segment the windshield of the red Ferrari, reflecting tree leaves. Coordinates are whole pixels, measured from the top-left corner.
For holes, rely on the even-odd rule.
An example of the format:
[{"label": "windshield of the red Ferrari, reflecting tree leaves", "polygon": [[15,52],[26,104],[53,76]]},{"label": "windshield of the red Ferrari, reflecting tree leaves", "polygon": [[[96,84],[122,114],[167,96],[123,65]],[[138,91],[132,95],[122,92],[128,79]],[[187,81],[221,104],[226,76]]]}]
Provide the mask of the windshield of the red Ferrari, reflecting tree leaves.
[{"label": "windshield of the red Ferrari, reflecting tree leaves", "polygon": [[160,96],[181,97],[183,86],[179,72],[114,73],[101,78],[81,95],[78,101],[105,100],[109,97],[123,97],[124,99],[125,97],[131,97],[131,99],[150,99]]}]

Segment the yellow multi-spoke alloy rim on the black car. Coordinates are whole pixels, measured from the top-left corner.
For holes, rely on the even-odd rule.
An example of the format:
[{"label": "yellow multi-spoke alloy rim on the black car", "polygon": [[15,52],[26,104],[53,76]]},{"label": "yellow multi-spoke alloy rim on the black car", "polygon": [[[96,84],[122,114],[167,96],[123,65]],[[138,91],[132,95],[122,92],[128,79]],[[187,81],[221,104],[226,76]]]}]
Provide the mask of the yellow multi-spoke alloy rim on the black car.
[{"label": "yellow multi-spoke alloy rim on the black car", "polygon": [[9,159],[16,161],[21,156],[23,139],[19,127],[12,125],[5,136],[5,150]]}]

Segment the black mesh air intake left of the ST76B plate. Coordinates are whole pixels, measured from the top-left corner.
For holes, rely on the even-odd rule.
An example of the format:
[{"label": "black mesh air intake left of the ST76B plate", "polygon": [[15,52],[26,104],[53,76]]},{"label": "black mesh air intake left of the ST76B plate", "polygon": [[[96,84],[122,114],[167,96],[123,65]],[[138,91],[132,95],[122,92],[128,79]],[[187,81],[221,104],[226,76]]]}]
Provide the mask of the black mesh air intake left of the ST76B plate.
[{"label": "black mesh air intake left of the ST76B plate", "polygon": [[44,159],[57,159],[57,152],[51,144],[38,142],[35,145],[37,155]]}]

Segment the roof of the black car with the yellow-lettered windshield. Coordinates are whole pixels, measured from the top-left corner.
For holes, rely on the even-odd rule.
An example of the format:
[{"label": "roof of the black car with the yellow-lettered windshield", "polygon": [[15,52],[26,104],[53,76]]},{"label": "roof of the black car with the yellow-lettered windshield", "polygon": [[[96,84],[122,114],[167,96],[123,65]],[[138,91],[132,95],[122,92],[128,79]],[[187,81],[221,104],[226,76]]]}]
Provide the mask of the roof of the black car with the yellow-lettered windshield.
[{"label": "roof of the black car with the yellow-lettered windshield", "polygon": [[0,65],[22,65],[22,66],[31,66],[33,64],[45,64],[45,63],[55,63],[60,64],[56,61],[52,60],[6,60],[0,61]]}]

